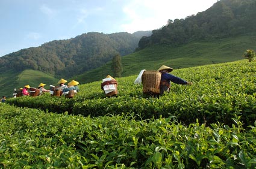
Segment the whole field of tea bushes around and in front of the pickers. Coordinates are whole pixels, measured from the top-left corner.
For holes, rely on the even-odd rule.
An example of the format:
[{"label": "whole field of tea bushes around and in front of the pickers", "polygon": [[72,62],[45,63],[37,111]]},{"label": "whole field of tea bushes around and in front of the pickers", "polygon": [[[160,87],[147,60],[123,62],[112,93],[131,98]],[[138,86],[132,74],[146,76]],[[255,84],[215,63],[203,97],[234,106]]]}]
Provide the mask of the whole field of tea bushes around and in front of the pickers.
[{"label": "whole field of tea bushes around and in front of the pickers", "polygon": [[172,73],[193,85],[172,83],[151,98],[131,76],[117,79],[112,98],[99,81],[80,85],[73,99],[7,99],[0,167],[255,168],[256,62]]}]

